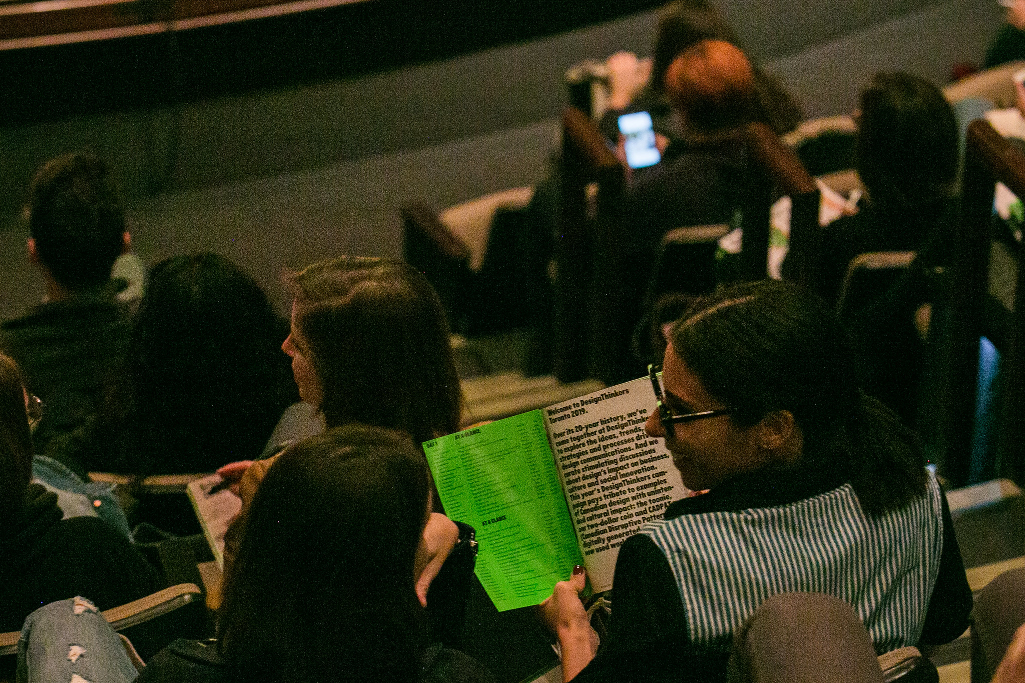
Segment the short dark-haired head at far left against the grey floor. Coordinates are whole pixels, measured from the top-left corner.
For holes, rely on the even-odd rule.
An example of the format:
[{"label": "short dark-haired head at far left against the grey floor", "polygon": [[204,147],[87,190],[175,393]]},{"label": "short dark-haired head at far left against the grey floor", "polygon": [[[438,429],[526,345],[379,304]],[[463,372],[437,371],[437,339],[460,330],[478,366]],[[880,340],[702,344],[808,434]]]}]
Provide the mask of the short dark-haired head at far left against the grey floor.
[{"label": "short dark-haired head at far left against the grey floor", "polygon": [[125,217],[100,159],[79,153],[47,162],[32,180],[29,212],[36,254],[57,283],[81,290],[110,279]]}]

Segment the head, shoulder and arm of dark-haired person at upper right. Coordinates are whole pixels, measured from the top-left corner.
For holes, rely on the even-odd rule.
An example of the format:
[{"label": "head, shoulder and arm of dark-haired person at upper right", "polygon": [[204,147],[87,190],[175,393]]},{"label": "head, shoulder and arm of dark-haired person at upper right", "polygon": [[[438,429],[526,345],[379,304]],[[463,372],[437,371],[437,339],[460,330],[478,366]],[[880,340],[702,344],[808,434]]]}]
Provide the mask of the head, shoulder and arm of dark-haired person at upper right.
[{"label": "head, shoulder and arm of dark-haired person at upper right", "polygon": [[855,256],[950,240],[933,230],[952,210],[958,164],[957,121],[940,89],[911,74],[876,74],[856,120],[855,164],[868,189],[858,213],[830,223],[783,264],[784,276],[805,266],[829,303]]}]

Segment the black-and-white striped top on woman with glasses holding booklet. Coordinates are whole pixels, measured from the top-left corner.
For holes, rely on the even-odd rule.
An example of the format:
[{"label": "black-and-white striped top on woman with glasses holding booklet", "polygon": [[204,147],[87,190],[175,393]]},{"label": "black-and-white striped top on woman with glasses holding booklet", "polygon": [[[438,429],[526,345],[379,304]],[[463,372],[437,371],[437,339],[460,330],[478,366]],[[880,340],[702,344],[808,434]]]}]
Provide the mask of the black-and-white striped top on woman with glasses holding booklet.
[{"label": "black-and-white striped top on woman with glasses holding booklet", "polygon": [[877,652],[918,642],[943,551],[942,494],[867,517],[850,484],[786,505],[684,514],[641,529],[665,555],[698,650],[732,634],[777,593],[851,604]]}]

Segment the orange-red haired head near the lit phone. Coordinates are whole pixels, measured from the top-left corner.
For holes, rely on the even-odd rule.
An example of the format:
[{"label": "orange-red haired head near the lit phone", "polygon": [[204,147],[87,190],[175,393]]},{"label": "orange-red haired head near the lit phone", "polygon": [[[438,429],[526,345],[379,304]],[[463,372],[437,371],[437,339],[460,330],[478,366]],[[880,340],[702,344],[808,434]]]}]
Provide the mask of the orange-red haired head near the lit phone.
[{"label": "orange-red haired head near the lit phone", "polygon": [[702,40],[676,56],[665,72],[665,90],[694,132],[731,131],[754,118],[751,62],[724,40]]}]

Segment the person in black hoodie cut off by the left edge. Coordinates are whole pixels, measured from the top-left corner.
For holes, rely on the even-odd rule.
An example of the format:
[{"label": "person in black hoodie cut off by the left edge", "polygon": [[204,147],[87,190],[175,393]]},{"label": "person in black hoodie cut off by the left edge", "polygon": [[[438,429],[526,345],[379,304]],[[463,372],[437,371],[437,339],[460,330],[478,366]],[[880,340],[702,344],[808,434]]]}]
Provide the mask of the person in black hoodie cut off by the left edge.
[{"label": "person in black hoodie cut off by the left edge", "polygon": [[17,365],[0,354],[0,632],[40,604],[76,594],[100,609],[163,586],[129,541],[99,517],[64,518],[57,494],[32,477],[27,394]]}]

